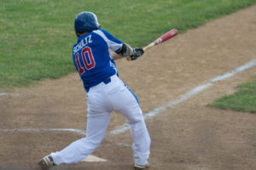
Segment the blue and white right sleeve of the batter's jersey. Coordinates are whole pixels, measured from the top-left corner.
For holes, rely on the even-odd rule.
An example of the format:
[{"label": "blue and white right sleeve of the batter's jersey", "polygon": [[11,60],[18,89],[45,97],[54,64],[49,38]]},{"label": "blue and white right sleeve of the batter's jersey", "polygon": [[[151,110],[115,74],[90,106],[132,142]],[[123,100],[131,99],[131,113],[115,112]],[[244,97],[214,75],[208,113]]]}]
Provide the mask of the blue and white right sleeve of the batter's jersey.
[{"label": "blue and white right sleeve of the batter's jersey", "polygon": [[108,44],[108,48],[112,49],[113,51],[118,50],[119,48],[121,48],[123,46],[123,42],[120,41],[118,38],[113,37],[108,31],[106,30],[96,30],[93,31],[94,33],[98,34],[99,36],[101,36],[105,42],[107,42]]}]

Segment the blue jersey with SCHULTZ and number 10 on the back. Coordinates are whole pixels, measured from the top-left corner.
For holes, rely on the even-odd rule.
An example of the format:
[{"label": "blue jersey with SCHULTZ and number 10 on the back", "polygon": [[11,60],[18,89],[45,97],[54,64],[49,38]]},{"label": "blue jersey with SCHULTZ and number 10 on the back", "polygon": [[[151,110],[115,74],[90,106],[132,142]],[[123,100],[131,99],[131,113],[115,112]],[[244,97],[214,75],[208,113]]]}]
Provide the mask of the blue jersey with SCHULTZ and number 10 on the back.
[{"label": "blue jersey with SCHULTZ and number 10 on the back", "polygon": [[78,42],[73,45],[73,63],[85,89],[118,74],[108,48],[116,51],[122,45],[123,42],[102,29],[78,37]]}]

